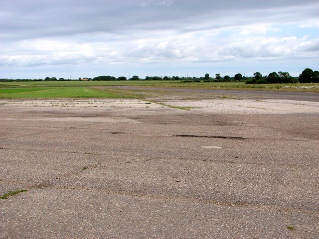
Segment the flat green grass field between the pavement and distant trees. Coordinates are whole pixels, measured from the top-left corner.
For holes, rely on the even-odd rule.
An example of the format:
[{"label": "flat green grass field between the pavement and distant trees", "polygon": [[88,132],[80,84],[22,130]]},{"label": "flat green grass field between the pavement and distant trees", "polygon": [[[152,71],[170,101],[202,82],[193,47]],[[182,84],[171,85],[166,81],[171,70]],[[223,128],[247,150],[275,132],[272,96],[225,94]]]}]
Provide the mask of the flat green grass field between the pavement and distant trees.
[{"label": "flat green grass field between the pavement and distant trees", "polygon": [[[137,89],[111,88],[134,86]],[[146,88],[186,88],[319,92],[319,83],[247,85],[244,82],[179,81],[34,81],[0,82],[0,99],[14,98],[139,98]]]}]

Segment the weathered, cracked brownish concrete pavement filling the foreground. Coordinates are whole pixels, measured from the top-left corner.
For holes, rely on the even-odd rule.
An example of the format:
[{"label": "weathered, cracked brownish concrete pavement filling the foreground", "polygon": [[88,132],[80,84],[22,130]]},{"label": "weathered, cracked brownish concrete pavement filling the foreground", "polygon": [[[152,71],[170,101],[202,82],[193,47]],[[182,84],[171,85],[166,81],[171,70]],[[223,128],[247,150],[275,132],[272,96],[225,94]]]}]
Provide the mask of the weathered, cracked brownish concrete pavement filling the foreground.
[{"label": "weathered, cracked brownish concrete pavement filling the foreground", "polygon": [[291,109],[0,100],[0,195],[27,190],[0,238],[319,238],[319,114]]}]

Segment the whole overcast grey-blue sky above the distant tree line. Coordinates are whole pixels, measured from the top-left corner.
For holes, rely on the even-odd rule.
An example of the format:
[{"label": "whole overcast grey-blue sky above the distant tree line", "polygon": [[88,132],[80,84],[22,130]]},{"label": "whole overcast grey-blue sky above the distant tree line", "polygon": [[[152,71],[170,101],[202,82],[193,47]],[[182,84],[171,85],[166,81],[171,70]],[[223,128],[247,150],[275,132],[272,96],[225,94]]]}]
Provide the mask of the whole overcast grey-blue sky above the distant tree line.
[{"label": "whole overcast grey-blue sky above the distant tree line", "polygon": [[0,78],[319,70],[318,0],[0,0]]}]

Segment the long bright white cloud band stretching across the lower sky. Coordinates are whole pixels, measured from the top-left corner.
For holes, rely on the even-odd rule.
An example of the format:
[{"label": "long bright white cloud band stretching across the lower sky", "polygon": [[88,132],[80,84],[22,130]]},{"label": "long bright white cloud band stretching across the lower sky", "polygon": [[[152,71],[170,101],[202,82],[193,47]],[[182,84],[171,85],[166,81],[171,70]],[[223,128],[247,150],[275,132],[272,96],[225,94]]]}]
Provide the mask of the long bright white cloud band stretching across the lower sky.
[{"label": "long bright white cloud band stretching across the lower sky", "polygon": [[[229,30],[229,29],[228,29]],[[233,32],[234,30],[229,30]],[[244,30],[245,31],[245,30]],[[229,59],[272,59],[313,57],[318,53],[319,39],[307,36],[268,37],[256,35],[247,29],[229,37],[219,37],[210,31],[198,34],[172,34],[171,37],[119,42],[86,42],[79,40],[24,40],[7,44],[2,53],[3,66],[38,66],[47,64],[113,63],[169,64],[223,62]],[[220,32],[225,34],[225,32]],[[106,38],[103,36],[102,38]]]}]

